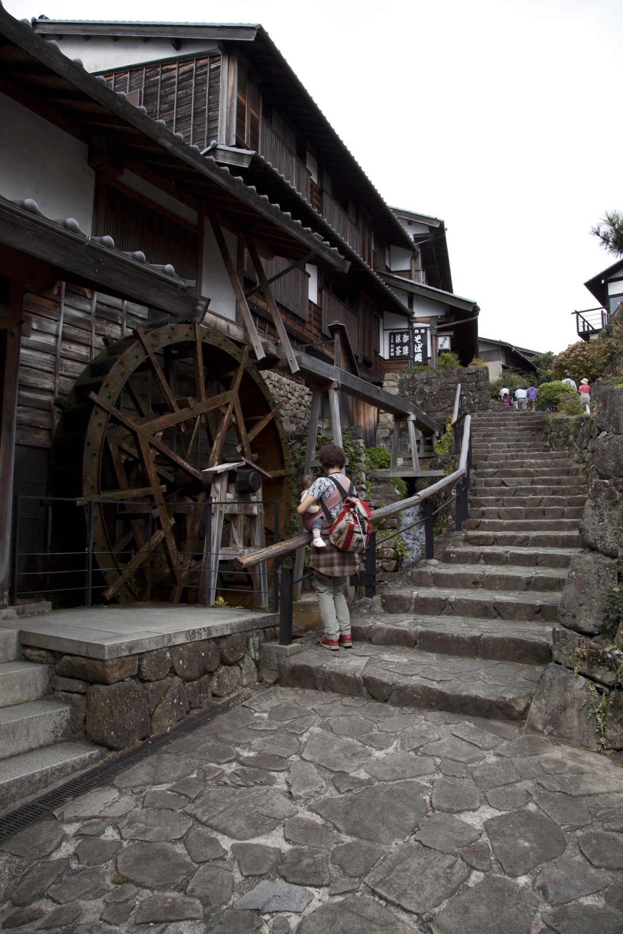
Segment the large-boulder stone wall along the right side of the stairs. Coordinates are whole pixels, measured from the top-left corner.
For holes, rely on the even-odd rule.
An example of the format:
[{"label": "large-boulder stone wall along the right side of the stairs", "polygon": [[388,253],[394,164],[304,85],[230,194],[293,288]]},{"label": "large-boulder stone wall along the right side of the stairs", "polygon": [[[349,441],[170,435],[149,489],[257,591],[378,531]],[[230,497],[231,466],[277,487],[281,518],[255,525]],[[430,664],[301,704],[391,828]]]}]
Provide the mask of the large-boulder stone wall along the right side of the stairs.
[{"label": "large-boulder stone wall along the right side of the stairs", "polygon": [[552,446],[592,478],[575,555],[528,728],[589,748],[623,749],[623,389],[602,387],[590,417],[551,418]]}]

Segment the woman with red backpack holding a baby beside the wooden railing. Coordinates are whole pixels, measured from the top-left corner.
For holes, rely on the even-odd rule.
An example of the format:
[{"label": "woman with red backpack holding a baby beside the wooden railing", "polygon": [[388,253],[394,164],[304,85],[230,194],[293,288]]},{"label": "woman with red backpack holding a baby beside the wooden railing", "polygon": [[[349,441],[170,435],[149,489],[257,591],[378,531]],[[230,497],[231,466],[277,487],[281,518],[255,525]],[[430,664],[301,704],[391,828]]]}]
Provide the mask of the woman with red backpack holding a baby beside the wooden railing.
[{"label": "woman with red backpack holding a baby beside the wooden railing", "polygon": [[[347,456],[342,447],[325,445],[320,450],[320,463],[325,476],[320,476],[309,488],[304,500],[297,506],[297,513],[302,516],[314,502],[321,500],[331,513],[332,520],[342,508],[347,496],[356,496],[344,465]],[[359,571],[359,555],[354,551],[340,551],[329,541],[329,522],[322,523],[321,536],[325,548],[312,548],[309,567],[314,572],[316,596],[322,619],[323,634],[320,645],[337,651],[339,648],[351,648],[350,614],[344,596],[344,585],[350,574]]]}]

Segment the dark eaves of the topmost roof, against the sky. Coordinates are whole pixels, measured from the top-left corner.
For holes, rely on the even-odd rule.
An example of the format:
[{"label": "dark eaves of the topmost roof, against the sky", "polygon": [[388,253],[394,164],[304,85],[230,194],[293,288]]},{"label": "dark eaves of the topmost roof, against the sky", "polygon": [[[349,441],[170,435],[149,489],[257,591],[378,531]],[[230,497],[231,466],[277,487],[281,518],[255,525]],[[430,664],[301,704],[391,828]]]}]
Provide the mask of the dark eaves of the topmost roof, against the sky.
[{"label": "dark eaves of the topmost roof, against the sky", "polygon": [[[348,178],[353,200],[359,200],[375,219],[381,233],[390,243],[413,248],[413,242],[400,221],[385,203],[372,181],[346,144],[333,130],[303,82],[276,48],[270,35],[259,24],[235,23],[168,23],[168,22],[104,22],[72,20],[35,20],[33,28],[42,35],[118,35],[160,36],[178,39],[211,39],[224,48],[241,46],[250,64],[262,76],[262,83],[276,93],[276,104],[287,111],[287,120],[308,139],[317,150],[321,162],[330,173],[337,171]],[[333,164],[333,169],[332,169]]]}]

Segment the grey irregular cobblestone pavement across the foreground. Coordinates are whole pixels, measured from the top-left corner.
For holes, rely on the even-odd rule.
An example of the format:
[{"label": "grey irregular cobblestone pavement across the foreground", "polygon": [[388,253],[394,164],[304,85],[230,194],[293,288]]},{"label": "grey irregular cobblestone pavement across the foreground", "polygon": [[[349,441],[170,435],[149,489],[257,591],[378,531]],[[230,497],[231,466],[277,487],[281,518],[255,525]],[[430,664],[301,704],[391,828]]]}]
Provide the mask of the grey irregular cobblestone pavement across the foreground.
[{"label": "grey irregular cobblestone pavement across the foreground", "polygon": [[275,687],[0,848],[3,929],[617,934],[623,771]]}]

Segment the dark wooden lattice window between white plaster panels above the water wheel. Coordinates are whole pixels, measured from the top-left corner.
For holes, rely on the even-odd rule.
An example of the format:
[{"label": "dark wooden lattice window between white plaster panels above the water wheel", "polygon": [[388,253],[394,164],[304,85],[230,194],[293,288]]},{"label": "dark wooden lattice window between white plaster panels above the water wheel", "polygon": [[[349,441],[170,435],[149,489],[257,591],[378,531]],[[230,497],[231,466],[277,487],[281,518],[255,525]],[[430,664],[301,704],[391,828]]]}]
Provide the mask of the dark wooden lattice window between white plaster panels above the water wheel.
[{"label": "dark wooden lattice window between white plaster panels above the water wheel", "polygon": [[120,185],[102,181],[98,198],[97,230],[108,234],[123,250],[141,250],[148,262],[170,262],[177,276],[201,290],[203,238],[198,228],[153,205]]}]

